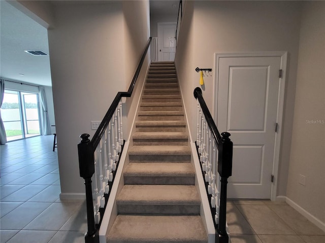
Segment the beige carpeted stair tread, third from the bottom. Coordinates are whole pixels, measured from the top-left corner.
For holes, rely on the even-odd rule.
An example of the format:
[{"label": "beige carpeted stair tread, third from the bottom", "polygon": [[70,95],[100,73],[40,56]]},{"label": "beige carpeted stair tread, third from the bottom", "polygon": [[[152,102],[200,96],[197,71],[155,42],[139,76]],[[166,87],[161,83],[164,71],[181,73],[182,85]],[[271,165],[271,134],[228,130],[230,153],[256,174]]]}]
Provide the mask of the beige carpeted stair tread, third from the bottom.
[{"label": "beige carpeted stair tread, third from the bottom", "polygon": [[123,175],[124,177],[195,177],[195,171],[190,163],[129,163]]}]

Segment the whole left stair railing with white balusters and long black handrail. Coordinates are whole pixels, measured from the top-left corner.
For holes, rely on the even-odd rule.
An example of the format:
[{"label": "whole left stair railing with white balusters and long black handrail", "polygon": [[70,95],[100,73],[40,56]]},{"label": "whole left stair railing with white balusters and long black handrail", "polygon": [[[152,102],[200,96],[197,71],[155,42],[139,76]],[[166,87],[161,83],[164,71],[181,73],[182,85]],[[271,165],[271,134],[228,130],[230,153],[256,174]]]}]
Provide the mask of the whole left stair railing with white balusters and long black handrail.
[{"label": "whole left stair railing with white balusters and long black handrail", "polygon": [[[92,139],[82,134],[78,144],[80,177],[85,180],[86,243],[99,243],[99,228],[114,182],[125,140],[123,139],[122,97],[131,97],[151,43],[149,38],[127,92],[118,92]],[[93,183],[92,183],[93,181]]]}]

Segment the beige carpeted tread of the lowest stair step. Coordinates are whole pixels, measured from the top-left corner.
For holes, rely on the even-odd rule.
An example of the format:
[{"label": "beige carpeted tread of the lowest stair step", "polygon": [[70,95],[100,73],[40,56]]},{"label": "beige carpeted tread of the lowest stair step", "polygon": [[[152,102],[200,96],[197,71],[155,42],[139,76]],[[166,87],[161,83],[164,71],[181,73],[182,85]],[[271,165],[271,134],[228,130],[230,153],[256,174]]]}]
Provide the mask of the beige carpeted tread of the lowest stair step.
[{"label": "beige carpeted tread of the lowest stair step", "polygon": [[203,243],[208,238],[200,216],[118,215],[107,235],[112,243]]}]

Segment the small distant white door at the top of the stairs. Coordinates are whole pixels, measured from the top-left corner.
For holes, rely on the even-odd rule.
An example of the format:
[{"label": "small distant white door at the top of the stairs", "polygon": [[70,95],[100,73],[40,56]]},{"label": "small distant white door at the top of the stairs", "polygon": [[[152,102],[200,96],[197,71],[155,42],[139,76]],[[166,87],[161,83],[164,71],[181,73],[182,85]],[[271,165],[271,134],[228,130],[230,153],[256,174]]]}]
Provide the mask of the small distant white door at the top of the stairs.
[{"label": "small distant white door at the top of the stairs", "polygon": [[174,61],[176,23],[158,23],[158,61]]}]

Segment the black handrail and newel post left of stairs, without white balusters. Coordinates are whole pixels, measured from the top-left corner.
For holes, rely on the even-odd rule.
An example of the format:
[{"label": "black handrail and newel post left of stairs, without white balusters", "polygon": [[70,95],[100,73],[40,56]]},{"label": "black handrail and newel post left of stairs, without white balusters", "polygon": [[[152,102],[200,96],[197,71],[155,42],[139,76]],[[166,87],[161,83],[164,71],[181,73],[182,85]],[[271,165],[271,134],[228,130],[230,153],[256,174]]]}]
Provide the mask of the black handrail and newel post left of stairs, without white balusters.
[{"label": "black handrail and newel post left of stairs, without white balusters", "polygon": [[[99,128],[96,130],[94,136],[92,137],[91,141],[89,140],[89,134],[82,134],[80,138],[82,140],[78,144],[78,157],[79,157],[79,173],[80,177],[85,180],[85,190],[86,190],[86,208],[87,208],[87,233],[85,235],[85,242],[86,243],[99,243],[99,235],[98,231],[100,228],[101,221],[99,225],[95,224],[94,220],[94,212],[93,212],[93,198],[92,198],[92,186],[91,186],[91,177],[94,174],[94,151],[96,147],[99,145],[106,128],[109,125],[109,122],[119,104],[119,101],[122,97],[131,97],[134,87],[136,85],[137,78],[140,74],[141,67],[144,63],[145,57],[147,55],[152,37],[149,37],[144,52],[141,56],[139,65],[135,72],[135,75],[132,79],[131,85],[129,86],[127,92],[118,92],[115,96],[111,106],[109,107],[108,111],[106,112]],[[123,149],[123,145],[122,145]],[[121,156],[122,151],[119,154],[119,158]],[[119,160],[118,160],[119,161]],[[116,170],[117,170],[116,165]],[[114,175],[113,175],[114,179]],[[111,185],[110,185],[111,188]],[[110,191],[109,191],[110,193]],[[102,213],[105,211],[109,193],[105,195],[105,207],[102,210]]]}]

